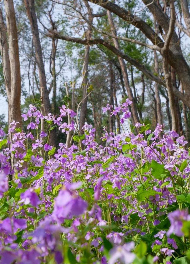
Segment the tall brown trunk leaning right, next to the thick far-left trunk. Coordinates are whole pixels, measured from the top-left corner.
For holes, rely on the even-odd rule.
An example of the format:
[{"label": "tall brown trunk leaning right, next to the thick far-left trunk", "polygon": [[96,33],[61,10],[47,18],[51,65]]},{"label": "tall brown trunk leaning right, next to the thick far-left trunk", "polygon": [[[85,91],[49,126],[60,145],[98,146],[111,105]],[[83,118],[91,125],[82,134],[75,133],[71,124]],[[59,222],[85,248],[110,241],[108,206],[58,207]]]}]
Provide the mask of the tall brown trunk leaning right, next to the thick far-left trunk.
[{"label": "tall brown trunk leaning right, next to the thick far-left trunk", "polygon": [[[29,17],[31,30],[32,30],[32,36],[33,36],[33,43],[36,53],[36,62],[38,66],[39,71],[39,85],[40,85],[40,95],[41,95],[41,111],[43,115],[48,115],[50,113],[50,100],[46,85],[46,77],[45,77],[45,68],[43,63],[43,57],[42,57],[42,48],[41,43],[39,39],[39,31],[38,31],[38,24],[37,24],[37,17],[35,13],[35,7],[34,7],[34,0],[24,0],[27,14]],[[43,125],[42,125],[43,126]],[[50,145],[56,146],[56,133],[55,130],[52,130],[50,133],[49,138]]]}]

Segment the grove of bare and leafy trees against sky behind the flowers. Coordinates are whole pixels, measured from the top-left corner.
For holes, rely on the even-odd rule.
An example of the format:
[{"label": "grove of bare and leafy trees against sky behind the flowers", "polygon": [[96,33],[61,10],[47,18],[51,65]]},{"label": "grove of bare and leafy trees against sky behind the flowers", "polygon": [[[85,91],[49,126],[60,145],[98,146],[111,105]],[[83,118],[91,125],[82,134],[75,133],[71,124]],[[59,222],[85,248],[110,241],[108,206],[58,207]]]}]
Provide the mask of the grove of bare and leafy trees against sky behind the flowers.
[{"label": "grove of bare and leafy trees against sky behind the flowers", "polygon": [[121,129],[102,107],[129,98],[133,123],[164,123],[189,141],[189,30],[187,0],[2,1],[5,121],[21,126],[20,109],[33,102],[43,115],[65,103],[77,111],[80,130],[88,120],[101,136],[105,125]]}]

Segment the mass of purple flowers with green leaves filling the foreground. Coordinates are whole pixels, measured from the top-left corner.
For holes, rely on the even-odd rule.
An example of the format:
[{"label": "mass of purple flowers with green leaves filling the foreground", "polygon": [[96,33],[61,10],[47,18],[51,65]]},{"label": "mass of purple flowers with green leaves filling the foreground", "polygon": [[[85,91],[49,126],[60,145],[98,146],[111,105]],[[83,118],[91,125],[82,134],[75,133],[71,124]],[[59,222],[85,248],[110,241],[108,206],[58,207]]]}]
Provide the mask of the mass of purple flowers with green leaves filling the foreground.
[{"label": "mass of purple flowers with green leaves filling the foreground", "polygon": [[[102,145],[64,105],[59,116],[30,105],[28,133],[13,121],[11,141],[0,130],[0,263],[189,263],[187,141],[126,125],[131,103],[103,108],[122,113],[123,133],[105,128]],[[55,126],[75,144],[51,146]]]}]

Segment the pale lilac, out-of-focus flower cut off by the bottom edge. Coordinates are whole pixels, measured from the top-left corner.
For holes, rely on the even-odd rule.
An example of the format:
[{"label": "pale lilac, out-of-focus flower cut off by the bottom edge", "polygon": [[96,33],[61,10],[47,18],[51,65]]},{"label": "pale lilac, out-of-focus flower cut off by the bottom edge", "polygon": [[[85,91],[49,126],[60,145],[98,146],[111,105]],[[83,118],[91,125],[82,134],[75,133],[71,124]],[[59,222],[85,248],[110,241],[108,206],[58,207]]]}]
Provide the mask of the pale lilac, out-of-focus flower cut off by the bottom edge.
[{"label": "pale lilac, out-of-focus flower cut off by the bottom edge", "polygon": [[135,259],[135,255],[131,253],[131,249],[134,248],[134,242],[124,244],[123,246],[113,247],[110,250],[110,260],[108,264],[115,264],[118,260],[123,264],[132,263]]}]

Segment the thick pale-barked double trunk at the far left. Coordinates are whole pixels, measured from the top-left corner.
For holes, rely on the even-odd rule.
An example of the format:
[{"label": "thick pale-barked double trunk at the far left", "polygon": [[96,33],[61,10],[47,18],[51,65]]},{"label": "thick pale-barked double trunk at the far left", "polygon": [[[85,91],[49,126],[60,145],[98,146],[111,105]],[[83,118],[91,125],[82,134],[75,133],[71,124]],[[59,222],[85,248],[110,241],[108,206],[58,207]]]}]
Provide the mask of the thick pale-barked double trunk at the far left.
[{"label": "thick pale-barked double trunk at the far left", "polygon": [[[22,117],[20,110],[20,95],[21,95],[21,79],[20,79],[20,61],[18,49],[17,26],[15,19],[15,9],[12,0],[4,1],[6,22],[7,22],[7,36],[6,28],[3,25],[1,12],[1,56],[4,67],[4,78],[6,90],[9,93],[9,123],[15,120],[20,124],[17,127],[22,128]],[[9,48],[8,48],[9,47]],[[8,53],[9,50],[9,53]],[[8,76],[9,75],[9,76]]]}]

